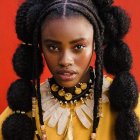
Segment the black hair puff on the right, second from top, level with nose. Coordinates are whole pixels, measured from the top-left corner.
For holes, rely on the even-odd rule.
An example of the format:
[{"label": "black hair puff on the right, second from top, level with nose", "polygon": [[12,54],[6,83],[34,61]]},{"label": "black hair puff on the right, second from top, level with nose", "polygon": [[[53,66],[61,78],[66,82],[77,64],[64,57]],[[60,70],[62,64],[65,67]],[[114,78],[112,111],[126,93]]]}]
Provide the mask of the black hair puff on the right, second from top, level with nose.
[{"label": "black hair puff on the right, second from top, level with nose", "polygon": [[129,71],[132,66],[132,55],[123,41],[109,43],[104,49],[104,67],[110,74],[117,75]]}]

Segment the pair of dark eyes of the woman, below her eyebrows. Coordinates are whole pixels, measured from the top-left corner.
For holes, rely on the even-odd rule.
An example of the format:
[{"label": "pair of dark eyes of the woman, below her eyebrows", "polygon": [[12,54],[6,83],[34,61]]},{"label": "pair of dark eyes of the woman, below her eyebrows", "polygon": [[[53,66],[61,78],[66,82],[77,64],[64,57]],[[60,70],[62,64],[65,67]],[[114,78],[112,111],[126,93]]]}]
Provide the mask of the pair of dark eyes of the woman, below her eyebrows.
[{"label": "pair of dark eyes of the woman, below her eyebrows", "polygon": [[[80,48],[78,48],[79,46],[80,46]],[[56,45],[48,45],[47,47],[48,47],[48,49],[49,49],[50,51],[54,51],[54,52],[60,51],[59,47],[57,47]],[[75,51],[81,51],[81,50],[84,49],[85,47],[86,47],[86,46],[83,45],[83,44],[77,44],[77,45],[75,45],[74,50],[75,50]]]}]

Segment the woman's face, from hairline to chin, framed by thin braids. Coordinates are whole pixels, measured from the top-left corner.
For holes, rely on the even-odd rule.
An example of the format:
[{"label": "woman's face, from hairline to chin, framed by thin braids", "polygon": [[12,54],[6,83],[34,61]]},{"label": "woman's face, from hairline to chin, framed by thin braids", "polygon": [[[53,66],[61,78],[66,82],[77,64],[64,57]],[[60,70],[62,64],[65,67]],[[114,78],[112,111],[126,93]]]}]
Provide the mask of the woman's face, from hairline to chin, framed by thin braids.
[{"label": "woman's face, from hairline to chin, framed by thin braids", "polygon": [[59,85],[73,87],[89,80],[93,34],[93,26],[82,16],[44,22],[41,47],[48,68]]}]

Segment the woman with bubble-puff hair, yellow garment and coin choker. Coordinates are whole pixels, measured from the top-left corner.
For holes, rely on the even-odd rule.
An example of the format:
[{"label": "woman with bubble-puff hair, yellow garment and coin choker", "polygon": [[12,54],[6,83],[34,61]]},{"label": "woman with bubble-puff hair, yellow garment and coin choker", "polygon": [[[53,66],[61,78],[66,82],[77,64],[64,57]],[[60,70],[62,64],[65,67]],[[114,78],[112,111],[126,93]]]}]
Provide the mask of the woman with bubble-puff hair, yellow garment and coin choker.
[{"label": "woman with bubble-puff hair, yellow garment and coin choker", "polygon": [[[138,89],[123,42],[130,18],[112,4],[27,0],[20,6],[16,32],[23,43],[13,65],[21,79],[8,90],[1,139],[139,139]],[[40,85],[41,53],[53,76]]]}]

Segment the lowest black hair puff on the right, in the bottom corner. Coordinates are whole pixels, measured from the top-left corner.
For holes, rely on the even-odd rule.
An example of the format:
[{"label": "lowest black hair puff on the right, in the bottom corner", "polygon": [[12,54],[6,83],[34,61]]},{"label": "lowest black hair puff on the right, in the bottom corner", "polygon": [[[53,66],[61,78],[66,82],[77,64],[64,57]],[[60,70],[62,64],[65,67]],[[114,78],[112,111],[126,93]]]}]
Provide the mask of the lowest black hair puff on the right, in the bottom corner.
[{"label": "lowest black hair puff on the right, in the bottom corner", "polygon": [[136,114],[131,111],[120,112],[116,120],[115,130],[117,140],[137,140],[140,133],[140,123]]}]

